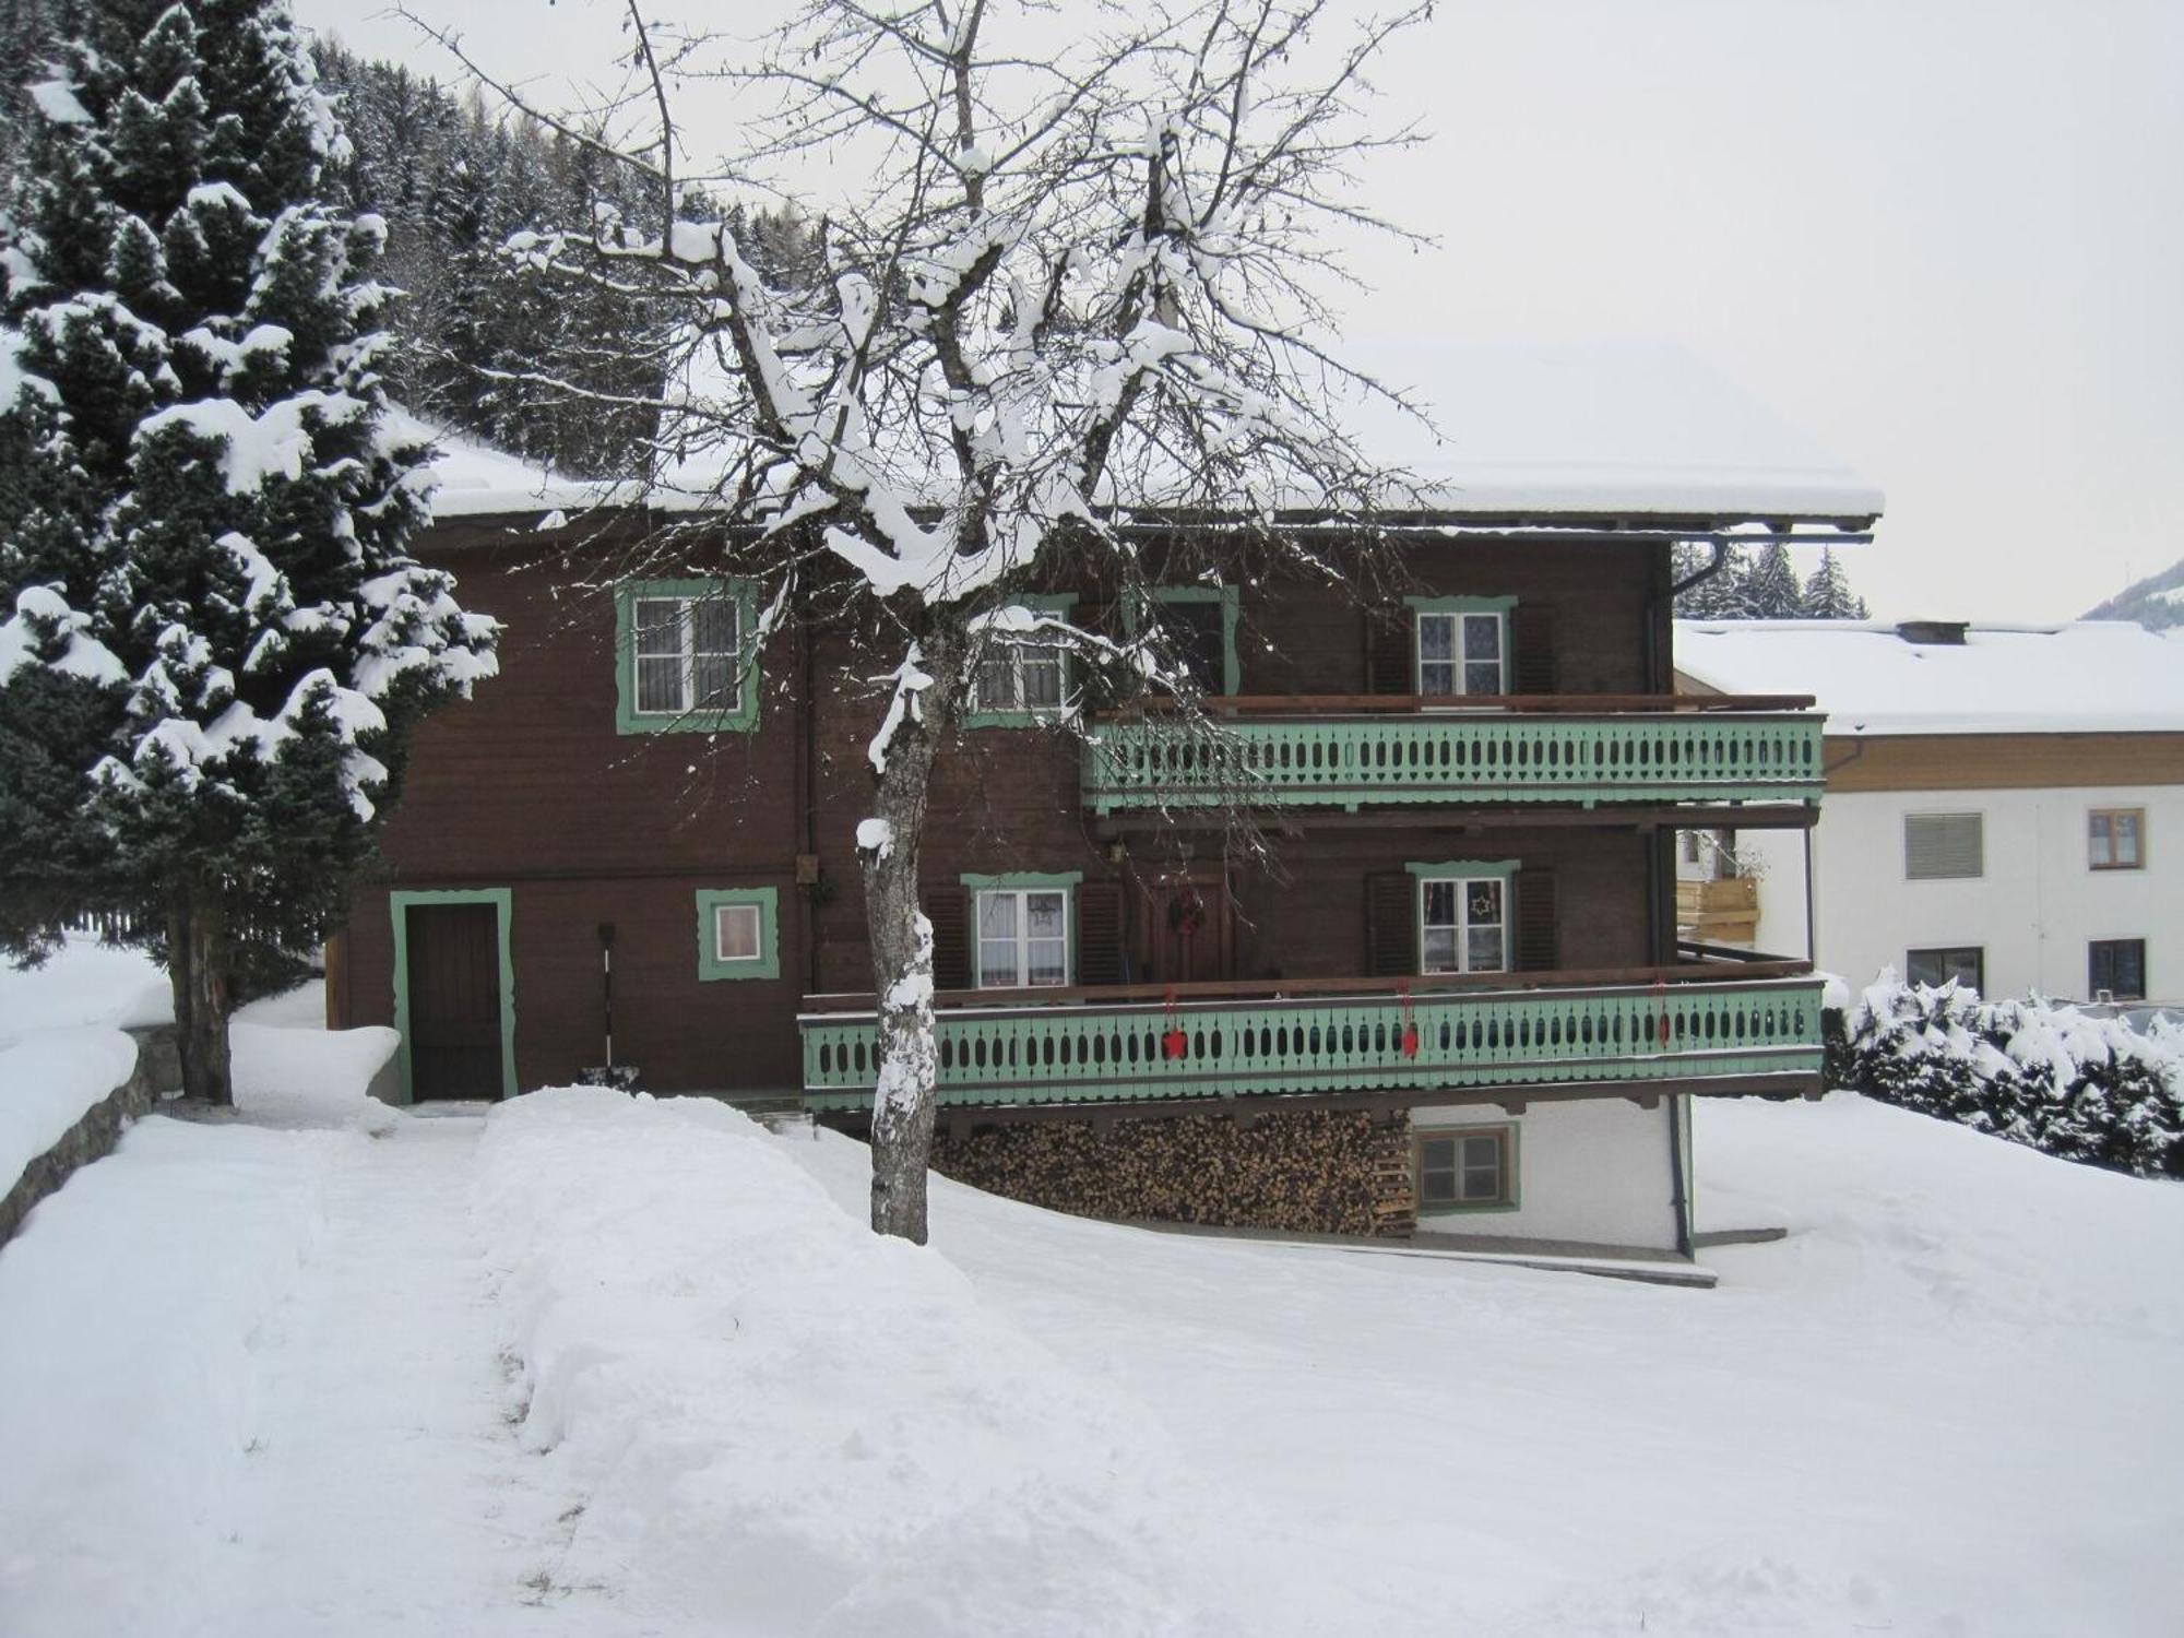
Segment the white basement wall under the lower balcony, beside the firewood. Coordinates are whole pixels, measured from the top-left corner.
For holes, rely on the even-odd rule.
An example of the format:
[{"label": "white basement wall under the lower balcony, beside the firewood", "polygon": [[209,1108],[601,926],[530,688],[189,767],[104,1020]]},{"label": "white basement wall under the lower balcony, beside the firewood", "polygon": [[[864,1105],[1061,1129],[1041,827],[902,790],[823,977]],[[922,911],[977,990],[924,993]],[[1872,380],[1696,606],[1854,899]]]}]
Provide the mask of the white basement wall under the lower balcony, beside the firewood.
[{"label": "white basement wall under the lower balcony, beside the firewood", "polygon": [[1411,1125],[1417,1131],[1516,1127],[1518,1203],[1420,1212],[1422,1232],[1675,1249],[1666,1099],[1655,1109],[1627,1099],[1533,1103],[1520,1116],[1492,1103],[1413,1109]]}]

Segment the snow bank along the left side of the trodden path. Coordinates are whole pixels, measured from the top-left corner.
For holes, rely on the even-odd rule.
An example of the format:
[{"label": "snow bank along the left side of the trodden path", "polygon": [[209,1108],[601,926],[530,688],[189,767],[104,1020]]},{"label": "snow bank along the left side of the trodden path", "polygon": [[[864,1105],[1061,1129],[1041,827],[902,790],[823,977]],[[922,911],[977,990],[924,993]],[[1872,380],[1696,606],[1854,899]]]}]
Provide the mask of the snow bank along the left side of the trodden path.
[{"label": "snow bank along the left side of the trodden path", "polygon": [[164,1634],[205,1605],[258,1328],[358,1142],[142,1120],[0,1249],[0,1629]]}]

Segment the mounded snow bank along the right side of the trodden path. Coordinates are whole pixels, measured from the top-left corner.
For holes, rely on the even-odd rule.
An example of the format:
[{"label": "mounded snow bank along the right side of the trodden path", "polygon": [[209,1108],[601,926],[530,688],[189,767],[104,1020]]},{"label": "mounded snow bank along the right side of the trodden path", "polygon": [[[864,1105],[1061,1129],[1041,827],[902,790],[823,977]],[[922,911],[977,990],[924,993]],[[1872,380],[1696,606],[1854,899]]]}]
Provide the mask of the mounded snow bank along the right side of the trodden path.
[{"label": "mounded snow bank along the right side of the trodden path", "polygon": [[719,1631],[1208,1629],[1142,1411],[734,1109],[500,1105],[474,1219],[524,1433],[587,1494],[559,1581]]}]

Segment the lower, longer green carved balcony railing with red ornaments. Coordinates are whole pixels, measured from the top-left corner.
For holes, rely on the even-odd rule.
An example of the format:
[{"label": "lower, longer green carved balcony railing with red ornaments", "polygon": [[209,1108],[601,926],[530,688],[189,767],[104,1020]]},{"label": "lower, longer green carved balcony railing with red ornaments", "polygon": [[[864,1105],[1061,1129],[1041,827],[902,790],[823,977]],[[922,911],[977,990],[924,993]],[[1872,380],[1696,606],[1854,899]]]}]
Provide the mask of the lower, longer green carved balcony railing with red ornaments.
[{"label": "lower, longer green carved balcony railing with red ornaments", "polygon": [[[1428,983],[1428,981],[1420,981]],[[954,1005],[943,1105],[1114,1103],[1819,1072],[1819,978]],[[1099,994],[1099,992],[1075,992]],[[804,1103],[871,1105],[869,1011],[808,1011]]]}]

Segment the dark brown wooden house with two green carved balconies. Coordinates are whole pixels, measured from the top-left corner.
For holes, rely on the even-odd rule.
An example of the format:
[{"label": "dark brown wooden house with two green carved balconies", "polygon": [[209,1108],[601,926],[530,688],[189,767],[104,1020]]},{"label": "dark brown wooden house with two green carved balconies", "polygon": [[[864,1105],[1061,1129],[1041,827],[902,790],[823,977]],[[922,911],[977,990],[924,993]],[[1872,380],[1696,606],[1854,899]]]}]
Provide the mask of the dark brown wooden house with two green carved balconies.
[{"label": "dark brown wooden house with two green carved balconies", "polygon": [[[424,555],[505,622],[502,675],[417,738],[334,1022],[402,1031],[397,1101],[612,1061],[856,1127],[874,703],[847,646],[784,631],[743,664],[751,609],[703,548],[616,581],[644,520],[450,476]],[[981,675],[924,850],[935,1164],[1112,1216],[1688,1245],[1686,1101],[1815,1092],[1819,987],[1677,946],[1673,839],[1808,826],[1821,773],[1808,701],[1673,697],[1671,544],[1878,509],[1732,478],[1472,483],[1406,520],[1413,585],[1365,609],[1051,587],[1173,620],[1227,727],[1092,710],[1037,644]],[[1227,847],[1238,802],[1271,858]]]}]

